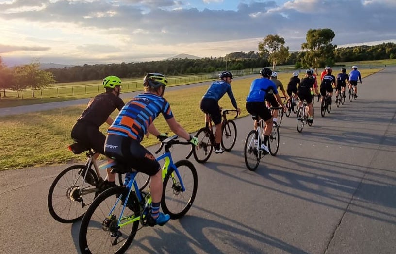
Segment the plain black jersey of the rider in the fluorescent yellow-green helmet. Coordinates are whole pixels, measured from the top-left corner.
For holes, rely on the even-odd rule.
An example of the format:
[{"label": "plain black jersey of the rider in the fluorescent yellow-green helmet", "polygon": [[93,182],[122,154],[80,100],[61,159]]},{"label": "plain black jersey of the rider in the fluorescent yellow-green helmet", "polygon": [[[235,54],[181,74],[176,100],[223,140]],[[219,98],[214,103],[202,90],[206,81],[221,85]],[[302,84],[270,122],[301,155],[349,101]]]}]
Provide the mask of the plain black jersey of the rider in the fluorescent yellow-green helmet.
[{"label": "plain black jersey of the rider in the fluorescent yellow-green helmet", "polygon": [[116,108],[121,110],[123,106],[124,102],[115,94],[101,93],[88,102],[87,108],[77,121],[86,122],[99,128]]}]

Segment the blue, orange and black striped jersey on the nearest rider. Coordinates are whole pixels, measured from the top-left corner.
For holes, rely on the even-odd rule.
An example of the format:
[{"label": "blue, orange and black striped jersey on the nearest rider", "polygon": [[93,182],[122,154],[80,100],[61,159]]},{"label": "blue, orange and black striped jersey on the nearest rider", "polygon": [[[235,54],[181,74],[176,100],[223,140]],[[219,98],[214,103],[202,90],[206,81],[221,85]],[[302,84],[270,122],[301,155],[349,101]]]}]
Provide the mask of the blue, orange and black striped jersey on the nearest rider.
[{"label": "blue, orange and black striped jersey on the nearest rider", "polygon": [[122,108],[107,133],[128,136],[140,142],[147,133],[148,126],[160,113],[165,119],[173,118],[169,102],[165,98],[152,93],[136,95]]}]

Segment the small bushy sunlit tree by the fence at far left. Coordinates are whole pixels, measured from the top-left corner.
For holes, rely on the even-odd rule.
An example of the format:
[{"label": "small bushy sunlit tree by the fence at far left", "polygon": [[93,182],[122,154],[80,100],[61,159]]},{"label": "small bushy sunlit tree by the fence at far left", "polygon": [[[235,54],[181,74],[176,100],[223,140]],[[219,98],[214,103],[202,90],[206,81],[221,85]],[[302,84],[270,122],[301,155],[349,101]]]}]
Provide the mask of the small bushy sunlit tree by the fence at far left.
[{"label": "small bushy sunlit tree by the fence at far left", "polygon": [[[15,84],[13,88],[17,91],[31,87],[32,97],[34,97],[34,89],[44,88],[54,83],[53,74],[48,71],[40,70],[40,63],[33,62],[29,65],[18,66],[14,69]],[[19,97],[19,92],[18,92]]]}]

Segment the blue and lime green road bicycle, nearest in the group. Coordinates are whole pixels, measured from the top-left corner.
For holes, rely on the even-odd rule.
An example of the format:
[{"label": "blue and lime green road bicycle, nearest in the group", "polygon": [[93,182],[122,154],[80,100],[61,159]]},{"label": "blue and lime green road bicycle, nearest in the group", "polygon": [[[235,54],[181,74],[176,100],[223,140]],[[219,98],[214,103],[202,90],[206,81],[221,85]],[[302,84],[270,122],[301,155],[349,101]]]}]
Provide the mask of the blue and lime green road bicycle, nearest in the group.
[{"label": "blue and lime green road bicycle, nearest in the group", "polygon": [[[177,138],[177,135],[166,138],[155,152],[158,153],[165,147],[164,154],[157,158],[158,161],[165,160],[162,168],[164,186],[161,208],[172,220],[179,219],[188,212],[198,188],[194,165],[188,160],[173,163],[170,148],[175,144],[191,145],[190,142],[181,142]],[[132,170],[117,161],[111,167],[112,171],[121,174]],[[136,232],[149,225],[152,198],[149,190],[141,191],[135,180],[136,173],[131,173],[131,179],[125,187],[105,190],[89,206],[82,218],[79,232],[82,253],[124,253]]]}]

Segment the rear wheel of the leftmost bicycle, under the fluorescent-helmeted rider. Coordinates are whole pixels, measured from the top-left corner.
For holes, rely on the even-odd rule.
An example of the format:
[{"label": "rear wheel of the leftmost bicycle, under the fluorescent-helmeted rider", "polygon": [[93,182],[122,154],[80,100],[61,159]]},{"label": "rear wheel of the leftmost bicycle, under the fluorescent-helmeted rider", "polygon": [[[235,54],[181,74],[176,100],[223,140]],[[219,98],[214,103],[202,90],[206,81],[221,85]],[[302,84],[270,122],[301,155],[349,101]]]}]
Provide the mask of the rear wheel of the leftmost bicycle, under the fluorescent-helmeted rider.
[{"label": "rear wheel of the leftmost bicycle, under the fluorescent-helmeted rider", "polygon": [[55,178],[49,187],[47,204],[51,216],[62,223],[73,223],[82,218],[88,206],[98,196],[98,176],[95,171],[89,169],[86,178],[94,180],[94,185],[84,182],[83,175],[79,171],[85,169],[85,165],[73,165]]}]

